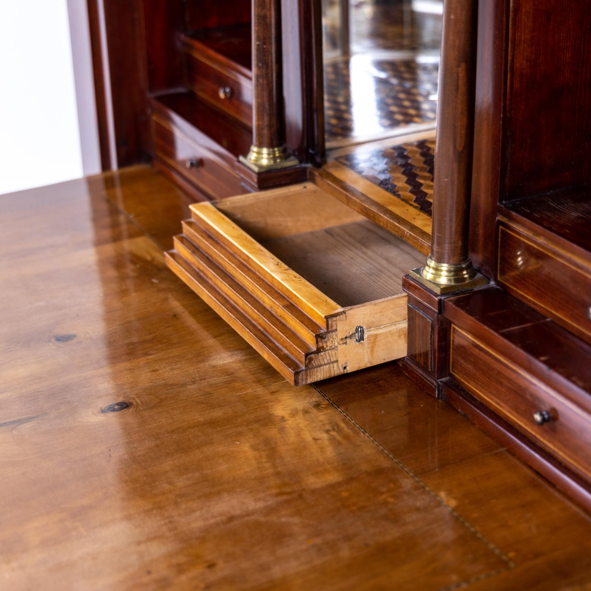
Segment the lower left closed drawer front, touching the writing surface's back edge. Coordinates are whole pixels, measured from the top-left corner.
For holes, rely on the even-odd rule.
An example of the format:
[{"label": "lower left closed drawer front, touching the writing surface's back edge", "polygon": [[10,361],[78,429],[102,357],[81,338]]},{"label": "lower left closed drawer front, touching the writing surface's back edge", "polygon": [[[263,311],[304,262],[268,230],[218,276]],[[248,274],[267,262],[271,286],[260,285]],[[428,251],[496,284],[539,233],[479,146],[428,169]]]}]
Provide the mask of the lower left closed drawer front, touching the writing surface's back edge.
[{"label": "lower left closed drawer front, touching the writing surface's back edge", "polygon": [[212,197],[243,193],[238,175],[167,122],[152,116],[154,151],[168,167]]}]

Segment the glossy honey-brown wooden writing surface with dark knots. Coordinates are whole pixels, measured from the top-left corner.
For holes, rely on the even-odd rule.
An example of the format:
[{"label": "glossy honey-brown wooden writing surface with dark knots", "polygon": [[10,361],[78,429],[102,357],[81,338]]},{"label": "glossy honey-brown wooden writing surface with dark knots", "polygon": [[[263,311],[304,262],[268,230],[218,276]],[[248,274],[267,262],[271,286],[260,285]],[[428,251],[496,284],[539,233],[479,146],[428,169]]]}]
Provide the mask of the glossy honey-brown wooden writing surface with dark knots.
[{"label": "glossy honey-brown wooden writing surface with dark knots", "polygon": [[397,366],[287,385],[164,267],[188,201],[0,200],[2,589],[591,582],[589,516]]}]

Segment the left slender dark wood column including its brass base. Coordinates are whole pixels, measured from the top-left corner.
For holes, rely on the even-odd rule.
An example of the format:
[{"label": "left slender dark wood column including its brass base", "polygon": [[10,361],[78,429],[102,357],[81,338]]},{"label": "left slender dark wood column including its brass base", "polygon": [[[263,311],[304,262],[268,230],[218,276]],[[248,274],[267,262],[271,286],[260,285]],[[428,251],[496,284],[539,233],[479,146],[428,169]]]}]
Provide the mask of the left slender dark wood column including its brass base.
[{"label": "left slender dark wood column including its brass base", "polygon": [[285,147],[281,0],[252,0],[252,146],[240,160],[257,173],[298,164]]}]

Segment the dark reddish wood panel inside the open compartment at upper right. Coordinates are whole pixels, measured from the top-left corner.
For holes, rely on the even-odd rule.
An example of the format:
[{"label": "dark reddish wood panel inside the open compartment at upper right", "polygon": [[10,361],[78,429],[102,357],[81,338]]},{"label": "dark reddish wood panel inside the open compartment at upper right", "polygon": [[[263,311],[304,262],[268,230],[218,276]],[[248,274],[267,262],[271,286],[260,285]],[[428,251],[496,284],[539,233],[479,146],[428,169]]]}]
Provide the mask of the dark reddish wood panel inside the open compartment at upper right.
[{"label": "dark reddish wood panel inside the open compartment at upper right", "polygon": [[588,184],[589,5],[512,2],[510,22],[504,200]]}]

